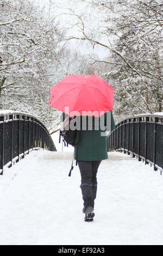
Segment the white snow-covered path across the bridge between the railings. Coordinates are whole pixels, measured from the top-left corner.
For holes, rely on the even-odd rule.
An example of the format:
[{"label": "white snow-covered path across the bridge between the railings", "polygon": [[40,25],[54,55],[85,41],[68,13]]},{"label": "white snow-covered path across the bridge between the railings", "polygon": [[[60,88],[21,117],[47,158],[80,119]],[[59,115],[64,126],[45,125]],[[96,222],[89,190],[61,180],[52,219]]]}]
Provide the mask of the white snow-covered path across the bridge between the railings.
[{"label": "white snow-covered path across the bridge between the railings", "polygon": [[95,220],[84,222],[79,169],[74,161],[68,177],[73,153],[67,150],[32,151],[4,170],[1,245],[163,245],[160,172],[123,153],[108,153],[98,169]]}]

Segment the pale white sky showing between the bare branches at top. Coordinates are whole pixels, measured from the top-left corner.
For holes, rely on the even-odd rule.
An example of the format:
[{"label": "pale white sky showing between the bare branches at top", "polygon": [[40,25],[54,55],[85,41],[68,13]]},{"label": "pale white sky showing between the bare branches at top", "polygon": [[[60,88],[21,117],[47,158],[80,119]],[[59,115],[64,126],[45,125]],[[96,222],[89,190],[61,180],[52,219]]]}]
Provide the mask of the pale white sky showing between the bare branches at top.
[{"label": "pale white sky showing between the bare branches at top", "polygon": [[[75,23],[76,18],[72,15],[64,15],[63,13],[72,13],[70,10],[66,8],[72,9],[76,14],[81,15],[83,17],[85,31],[87,33],[91,33],[91,29],[95,31],[98,22],[101,20],[100,14],[95,11],[95,9],[91,7],[87,7],[87,3],[80,2],[78,0],[30,0],[33,4],[39,3],[40,7],[48,10],[49,3],[52,4],[52,12],[54,15],[58,15],[58,21],[61,27],[72,27]],[[67,29],[67,35],[81,36],[82,33],[79,32],[79,28],[77,26],[73,26],[71,29]],[[102,40],[102,39],[101,39]],[[103,38],[105,41],[106,39]],[[103,42],[104,42],[103,41]],[[108,44],[105,41],[105,44]],[[92,48],[92,45],[89,42],[79,41],[79,40],[71,40],[67,42],[68,47],[77,48],[78,51],[82,52],[82,54],[97,54],[99,56],[99,60],[102,60],[104,57],[109,55],[109,51],[102,46],[95,46]]]}]

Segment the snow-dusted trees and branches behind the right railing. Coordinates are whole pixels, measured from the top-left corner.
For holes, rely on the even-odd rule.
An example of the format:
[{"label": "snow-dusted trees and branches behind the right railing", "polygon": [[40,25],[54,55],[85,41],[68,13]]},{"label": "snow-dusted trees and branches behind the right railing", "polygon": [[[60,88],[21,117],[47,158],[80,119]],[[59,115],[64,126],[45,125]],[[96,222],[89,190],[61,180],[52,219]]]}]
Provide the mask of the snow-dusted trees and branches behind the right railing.
[{"label": "snow-dusted trees and branches behind the right railing", "polygon": [[[74,26],[81,36],[65,40],[89,41],[92,47],[108,49],[108,58],[94,63],[108,63],[101,74],[115,87],[115,113],[122,115],[162,111],[162,7],[159,0],[87,0],[93,11],[101,12],[99,26],[87,32],[81,15]],[[110,54],[111,53],[111,54]],[[112,69],[110,69],[112,65]]]}]

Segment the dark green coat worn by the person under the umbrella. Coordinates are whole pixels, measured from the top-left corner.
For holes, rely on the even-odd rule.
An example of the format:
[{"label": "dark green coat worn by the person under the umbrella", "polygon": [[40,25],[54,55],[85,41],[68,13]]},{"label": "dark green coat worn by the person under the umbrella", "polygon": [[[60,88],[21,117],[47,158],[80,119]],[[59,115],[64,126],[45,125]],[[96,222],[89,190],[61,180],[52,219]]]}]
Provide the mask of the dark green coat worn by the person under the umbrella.
[{"label": "dark green coat worn by the person under the umbrella", "polygon": [[[80,117],[79,126],[82,130],[77,130],[76,143],[79,144],[74,147],[75,160],[97,161],[108,159],[107,137],[105,130],[112,131],[115,128],[112,111],[109,112],[105,113],[100,118],[92,117],[92,124],[89,124],[88,121],[90,117],[84,117],[84,121],[82,121],[82,118]],[[61,121],[63,121],[66,116],[67,115],[65,113],[62,113]],[[106,123],[106,116],[110,117],[110,119],[108,119],[110,120],[109,123]],[[98,129],[96,127],[98,127],[99,121],[101,121],[101,123]],[[104,125],[106,126],[105,130]]]}]

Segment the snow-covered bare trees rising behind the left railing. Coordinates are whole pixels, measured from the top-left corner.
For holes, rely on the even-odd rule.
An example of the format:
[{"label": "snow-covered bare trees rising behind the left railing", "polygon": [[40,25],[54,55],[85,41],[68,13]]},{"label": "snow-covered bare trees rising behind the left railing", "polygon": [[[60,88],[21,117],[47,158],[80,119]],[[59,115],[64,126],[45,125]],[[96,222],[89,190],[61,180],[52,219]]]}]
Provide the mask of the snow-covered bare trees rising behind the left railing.
[{"label": "snow-covered bare trees rising behind the left railing", "polygon": [[48,124],[49,88],[63,76],[55,19],[28,0],[0,1],[0,34],[0,108],[30,112]]}]

